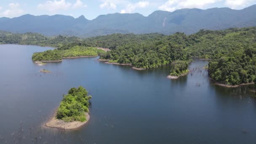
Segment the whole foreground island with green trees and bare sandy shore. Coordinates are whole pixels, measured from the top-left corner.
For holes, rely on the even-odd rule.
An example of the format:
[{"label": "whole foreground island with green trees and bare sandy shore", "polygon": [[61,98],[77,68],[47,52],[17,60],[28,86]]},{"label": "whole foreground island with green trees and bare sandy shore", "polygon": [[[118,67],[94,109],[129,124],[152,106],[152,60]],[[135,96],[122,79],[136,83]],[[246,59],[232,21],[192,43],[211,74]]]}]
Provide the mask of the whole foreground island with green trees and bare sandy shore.
[{"label": "whole foreground island with green trees and bare sandy shore", "polygon": [[81,127],[90,119],[90,99],[91,96],[82,86],[70,88],[68,94],[63,96],[60,106],[55,110],[45,126],[60,129]]}]

